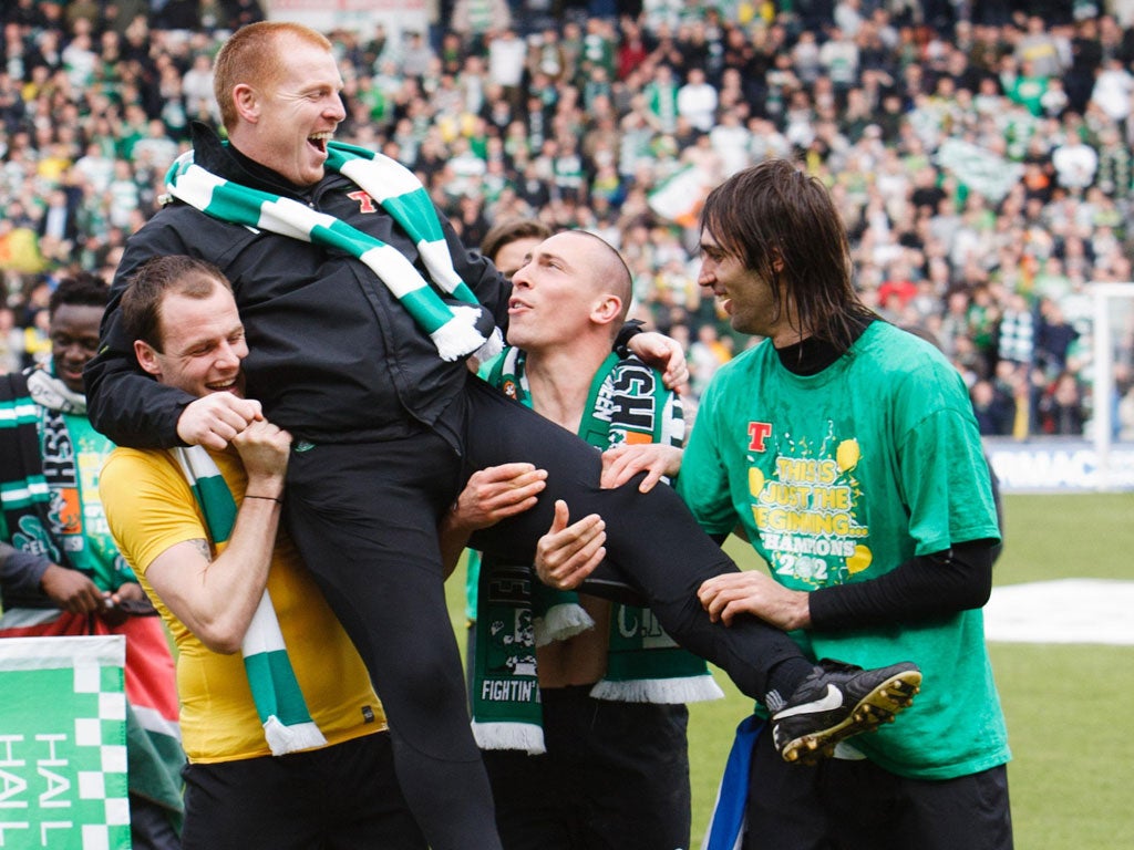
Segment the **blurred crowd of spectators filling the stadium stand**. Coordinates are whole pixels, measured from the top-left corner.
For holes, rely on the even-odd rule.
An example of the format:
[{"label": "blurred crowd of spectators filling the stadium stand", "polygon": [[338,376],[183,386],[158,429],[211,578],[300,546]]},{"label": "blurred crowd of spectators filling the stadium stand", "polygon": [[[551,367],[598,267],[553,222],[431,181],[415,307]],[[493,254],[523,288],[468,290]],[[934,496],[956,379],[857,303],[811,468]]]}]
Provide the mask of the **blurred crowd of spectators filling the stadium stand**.
[{"label": "blurred crowd of spectators filling the stadium stand", "polygon": [[[616,245],[641,317],[687,339],[693,399],[737,345],[696,284],[694,202],[795,159],[833,193],[868,303],[932,335],[983,433],[1083,433],[1088,284],[1134,280],[1134,2],[632,6],[446,0],[426,32],[331,32],[338,138],[413,168],[471,248],[516,216]],[[218,124],[212,56],[264,12],[11,0],[0,14],[3,372],[49,352],[61,277],[110,279],[189,124]],[[1116,374],[1125,397],[1128,358]]]}]

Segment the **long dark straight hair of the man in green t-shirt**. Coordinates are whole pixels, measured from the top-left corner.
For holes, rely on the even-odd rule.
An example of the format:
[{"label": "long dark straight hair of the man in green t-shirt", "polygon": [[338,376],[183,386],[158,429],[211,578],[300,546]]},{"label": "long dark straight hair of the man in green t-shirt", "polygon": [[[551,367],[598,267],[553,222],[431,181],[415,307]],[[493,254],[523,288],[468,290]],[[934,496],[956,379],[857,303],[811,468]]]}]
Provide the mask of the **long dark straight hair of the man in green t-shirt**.
[{"label": "long dark straight hair of the man in green t-shirt", "polygon": [[768,160],[718,186],[701,230],[765,280],[777,305],[787,295],[794,330],[845,351],[878,318],[852,284],[846,227],[830,194],[792,162]]}]

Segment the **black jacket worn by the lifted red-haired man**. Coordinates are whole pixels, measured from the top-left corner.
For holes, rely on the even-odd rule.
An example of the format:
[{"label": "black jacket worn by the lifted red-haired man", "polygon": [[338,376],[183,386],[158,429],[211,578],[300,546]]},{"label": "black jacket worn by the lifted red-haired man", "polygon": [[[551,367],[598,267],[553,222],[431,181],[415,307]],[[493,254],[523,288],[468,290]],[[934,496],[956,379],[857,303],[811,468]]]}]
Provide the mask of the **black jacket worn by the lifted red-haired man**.
[{"label": "black jacket worn by the lifted red-haired man", "polygon": [[[428,279],[409,236],[347,178],[328,171],[314,186],[297,189],[222,145],[203,125],[194,126],[193,147],[195,161],[209,171],[364,230],[401,252]],[[441,220],[457,273],[505,329],[510,287]],[[127,243],[102,320],[100,352],[84,375],[91,422],[120,445],[180,444],[177,420],[193,401],[141,371],[118,312],[137,266],[169,254],[211,262],[231,281],[249,348],[246,394],[296,439],[372,442],[438,427],[468,377],[464,362],[443,362],[397,298],[353,257],[254,232],[175,202]]]}]

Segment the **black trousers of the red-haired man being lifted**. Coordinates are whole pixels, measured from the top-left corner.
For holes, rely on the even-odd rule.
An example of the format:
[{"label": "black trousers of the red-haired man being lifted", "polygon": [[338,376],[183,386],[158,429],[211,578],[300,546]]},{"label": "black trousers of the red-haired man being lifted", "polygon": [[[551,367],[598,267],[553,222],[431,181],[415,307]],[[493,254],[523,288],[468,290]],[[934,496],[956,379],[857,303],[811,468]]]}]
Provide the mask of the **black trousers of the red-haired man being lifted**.
[{"label": "black trousers of the red-haired man being lifted", "polygon": [[[665,486],[601,490],[598,451],[469,375],[438,431],[380,443],[294,450],[288,530],[370,671],[390,722],[398,779],[433,850],[499,848],[492,798],[468,722],[457,641],[445,601],[437,526],[473,471],[513,461],[548,470],[532,510],[479,533],[486,553],[530,563],[555,500],[599,513],[608,558],[644,593],[682,646],[763,698],[767,672],[798,657],[755,618],[726,628],[696,598],[733,561]],[[301,444],[302,445],[302,444]]]}]

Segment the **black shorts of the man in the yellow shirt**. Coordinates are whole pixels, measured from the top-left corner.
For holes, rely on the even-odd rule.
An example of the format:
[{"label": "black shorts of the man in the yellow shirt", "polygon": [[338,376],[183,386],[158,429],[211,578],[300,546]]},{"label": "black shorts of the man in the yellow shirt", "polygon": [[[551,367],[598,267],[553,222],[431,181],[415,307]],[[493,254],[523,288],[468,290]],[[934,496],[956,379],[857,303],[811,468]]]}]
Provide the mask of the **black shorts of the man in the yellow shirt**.
[{"label": "black shorts of the man in the yellow shirt", "polygon": [[185,767],[183,850],[425,850],[390,736]]}]

